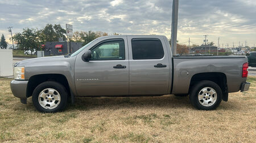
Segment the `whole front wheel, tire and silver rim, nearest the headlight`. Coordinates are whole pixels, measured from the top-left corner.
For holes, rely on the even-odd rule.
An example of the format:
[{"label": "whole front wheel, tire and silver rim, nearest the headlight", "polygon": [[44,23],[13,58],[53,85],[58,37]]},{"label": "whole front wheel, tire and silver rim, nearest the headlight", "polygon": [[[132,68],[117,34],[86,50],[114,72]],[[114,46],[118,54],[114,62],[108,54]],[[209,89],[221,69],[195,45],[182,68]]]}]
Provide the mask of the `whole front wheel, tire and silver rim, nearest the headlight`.
[{"label": "whole front wheel, tire and silver rim, nearest the headlight", "polygon": [[36,86],[32,101],[40,112],[58,112],[67,106],[68,94],[63,85],[56,81],[46,81]]}]

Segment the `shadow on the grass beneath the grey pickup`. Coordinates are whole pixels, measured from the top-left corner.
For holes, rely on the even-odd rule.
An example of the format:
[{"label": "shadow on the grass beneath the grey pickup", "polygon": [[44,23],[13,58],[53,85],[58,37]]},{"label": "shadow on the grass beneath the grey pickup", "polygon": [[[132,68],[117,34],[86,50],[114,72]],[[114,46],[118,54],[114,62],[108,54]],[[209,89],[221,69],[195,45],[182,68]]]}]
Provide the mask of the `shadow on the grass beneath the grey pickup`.
[{"label": "shadow on the grass beneath the grey pickup", "polygon": [[[32,99],[28,99],[26,110],[35,110]],[[192,109],[196,110],[189,102],[187,97],[177,97],[174,95],[156,96],[156,97],[76,97],[75,103],[69,103],[66,111],[72,110],[101,110],[101,109],[129,109],[129,108],[147,108],[155,109]],[[23,107],[22,107],[23,108]],[[20,108],[18,108],[20,109]],[[234,103],[221,102],[217,110],[239,109]]]}]

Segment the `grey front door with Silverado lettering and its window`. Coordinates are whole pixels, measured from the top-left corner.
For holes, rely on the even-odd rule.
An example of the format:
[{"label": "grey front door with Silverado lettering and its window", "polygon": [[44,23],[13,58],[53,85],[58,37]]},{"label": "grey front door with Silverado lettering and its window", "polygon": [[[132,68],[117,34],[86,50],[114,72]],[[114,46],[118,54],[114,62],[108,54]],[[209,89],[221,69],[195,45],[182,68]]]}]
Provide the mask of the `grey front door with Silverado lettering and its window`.
[{"label": "grey front door with Silverado lettering and its window", "polygon": [[126,36],[103,40],[90,48],[92,58],[75,64],[79,96],[118,96],[129,94],[129,60]]}]

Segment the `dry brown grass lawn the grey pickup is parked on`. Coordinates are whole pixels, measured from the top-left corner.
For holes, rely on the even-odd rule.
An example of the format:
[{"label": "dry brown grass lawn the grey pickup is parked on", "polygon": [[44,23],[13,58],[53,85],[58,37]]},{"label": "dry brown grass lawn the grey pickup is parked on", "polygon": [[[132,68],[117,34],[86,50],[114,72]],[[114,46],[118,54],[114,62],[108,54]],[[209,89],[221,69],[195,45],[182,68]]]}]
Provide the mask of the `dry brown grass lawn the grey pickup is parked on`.
[{"label": "dry brown grass lawn the grey pickup is parked on", "polygon": [[249,92],[232,93],[214,111],[188,97],[76,98],[64,112],[42,114],[23,105],[0,79],[3,142],[255,142],[256,77]]}]

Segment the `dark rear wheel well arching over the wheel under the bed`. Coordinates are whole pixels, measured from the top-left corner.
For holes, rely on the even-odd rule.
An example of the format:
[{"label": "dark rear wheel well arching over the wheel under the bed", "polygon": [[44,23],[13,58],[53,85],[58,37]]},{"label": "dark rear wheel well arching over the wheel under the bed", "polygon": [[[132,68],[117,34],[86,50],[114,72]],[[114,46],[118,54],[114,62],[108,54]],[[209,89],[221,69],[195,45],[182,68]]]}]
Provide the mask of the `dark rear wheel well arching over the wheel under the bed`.
[{"label": "dark rear wheel well arching over the wheel under the bed", "polygon": [[224,101],[228,101],[228,84],[226,81],[226,75],[221,72],[207,72],[207,73],[197,73],[196,75],[193,75],[191,78],[191,82],[189,85],[189,91],[192,88],[193,85],[197,84],[199,81],[202,80],[209,80],[216,83],[218,86],[220,86],[222,90],[222,99]]}]

